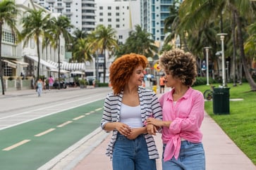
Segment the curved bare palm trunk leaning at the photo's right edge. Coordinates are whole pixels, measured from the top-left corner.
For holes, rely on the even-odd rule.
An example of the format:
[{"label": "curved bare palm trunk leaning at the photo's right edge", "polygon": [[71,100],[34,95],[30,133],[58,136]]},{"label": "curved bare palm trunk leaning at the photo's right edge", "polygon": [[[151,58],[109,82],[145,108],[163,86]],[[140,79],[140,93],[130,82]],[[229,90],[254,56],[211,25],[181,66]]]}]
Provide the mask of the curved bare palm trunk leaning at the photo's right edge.
[{"label": "curved bare palm trunk leaning at the photo's right edge", "polygon": [[243,48],[243,34],[242,34],[242,27],[241,27],[241,23],[240,23],[240,17],[238,15],[238,11],[233,10],[233,13],[235,13],[235,16],[236,16],[236,24],[238,27],[238,44],[239,44],[239,48],[240,48],[240,55],[241,55],[241,60],[243,63],[245,77],[246,77],[248,83],[250,84],[251,90],[256,91],[255,81],[252,79],[252,76],[250,75],[250,71],[248,70],[248,67],[246,64],[245,51]]}]

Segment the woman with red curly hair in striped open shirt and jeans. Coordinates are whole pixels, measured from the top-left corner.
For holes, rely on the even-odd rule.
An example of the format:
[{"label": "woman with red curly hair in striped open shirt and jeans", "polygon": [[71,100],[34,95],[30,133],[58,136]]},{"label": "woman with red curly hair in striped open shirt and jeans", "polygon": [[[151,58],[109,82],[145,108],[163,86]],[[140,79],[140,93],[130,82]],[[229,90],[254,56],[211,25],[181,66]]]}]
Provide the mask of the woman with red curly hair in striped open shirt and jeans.
[{"label": "woman with red curly hair in striped open shirt and jeans", "polygon": [[113,131],[106,155],[114,170],[157,169],[159,154],[152,136],[157,129],[146,126],[145,121],[162,116],[156,94],[142,87],[146,66],[144,55],[130,53],[117,58],[109,68],[113,92],[106,96],[101,126]]}]

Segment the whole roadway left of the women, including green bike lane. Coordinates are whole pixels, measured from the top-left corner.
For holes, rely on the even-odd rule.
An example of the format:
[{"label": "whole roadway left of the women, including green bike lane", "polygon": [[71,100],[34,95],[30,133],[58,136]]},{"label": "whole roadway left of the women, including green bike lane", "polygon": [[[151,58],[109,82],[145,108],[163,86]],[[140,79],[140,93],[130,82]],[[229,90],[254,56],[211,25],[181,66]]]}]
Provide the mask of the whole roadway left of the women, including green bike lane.
[{"label": "whole roadway left of the women, including green bike lane", "polygon": [[109,88],[1,98],[1,169],[38,169],[99,127]]}]

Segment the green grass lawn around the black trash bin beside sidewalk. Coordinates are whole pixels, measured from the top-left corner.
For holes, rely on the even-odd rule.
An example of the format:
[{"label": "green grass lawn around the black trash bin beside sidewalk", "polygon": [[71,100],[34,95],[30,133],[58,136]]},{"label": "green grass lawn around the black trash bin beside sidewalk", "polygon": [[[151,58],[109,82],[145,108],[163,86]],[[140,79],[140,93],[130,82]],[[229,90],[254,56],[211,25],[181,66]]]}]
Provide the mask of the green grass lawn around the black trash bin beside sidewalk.
[{"label": "green grass lawn around the black trash bin beside sidewalk", "polygon": [[[219,86],[219,84],[212,84]],[[205,102],[205,111],[236,145],[256,164],[256,92],[250,91],[247,83],[233,86],[228,84],[230,98],[243,98],[241,101],[230,101],[230,114],[214,115],[212,101]],[[193,86],[202,91],[210,86]]]}]

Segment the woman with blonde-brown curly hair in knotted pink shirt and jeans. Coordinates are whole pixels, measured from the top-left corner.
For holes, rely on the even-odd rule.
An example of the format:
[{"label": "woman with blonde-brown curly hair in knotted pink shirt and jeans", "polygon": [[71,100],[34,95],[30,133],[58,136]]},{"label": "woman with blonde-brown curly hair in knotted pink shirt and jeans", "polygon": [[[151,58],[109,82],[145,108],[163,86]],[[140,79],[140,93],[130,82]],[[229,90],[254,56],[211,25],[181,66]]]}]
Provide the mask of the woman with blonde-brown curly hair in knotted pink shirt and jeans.
[{"label": "woman with blonde-brown curly hair in knotted pink shirt and jeans", "polygon": [[162,169],[205,169],[205,150],[200,126],[205,100],[200,91],[191,88],[197,76],[195,57],[181,49],[167,51],[159,58],[165,72],[166,86],[159,102],[163,120],[147,119],[147,124],[162,127]]}]

